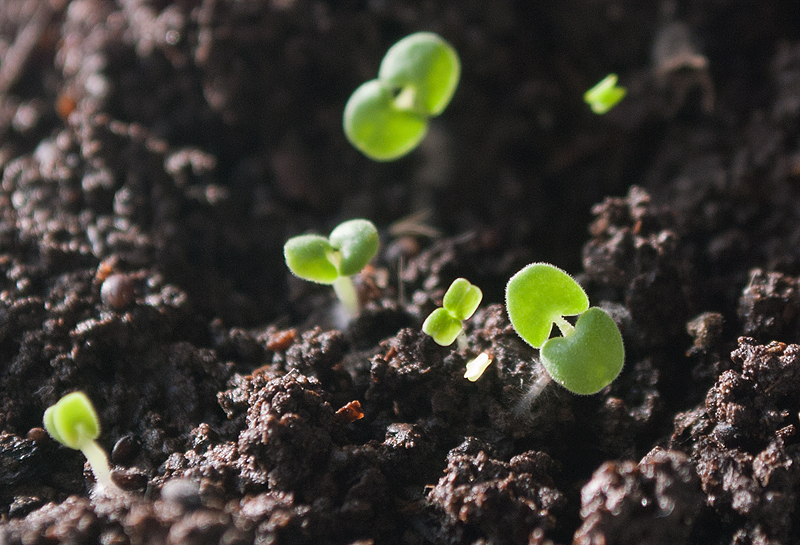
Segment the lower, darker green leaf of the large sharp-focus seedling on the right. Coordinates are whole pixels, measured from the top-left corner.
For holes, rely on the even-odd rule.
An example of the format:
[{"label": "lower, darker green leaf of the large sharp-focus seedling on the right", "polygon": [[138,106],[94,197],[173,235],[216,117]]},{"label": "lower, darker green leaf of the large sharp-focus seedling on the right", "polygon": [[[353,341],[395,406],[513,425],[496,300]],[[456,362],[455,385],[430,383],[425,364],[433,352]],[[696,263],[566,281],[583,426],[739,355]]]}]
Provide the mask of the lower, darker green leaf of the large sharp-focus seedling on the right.
[{"label": "lower, darker green leaf of the large sharp-focus seedling on the right", "polygon": [[541,350],[542,365],[567,390],[594,394],[622,371],[625,347],[611,316],[592,307],[578,318],[575,331],[554,337]]}]

